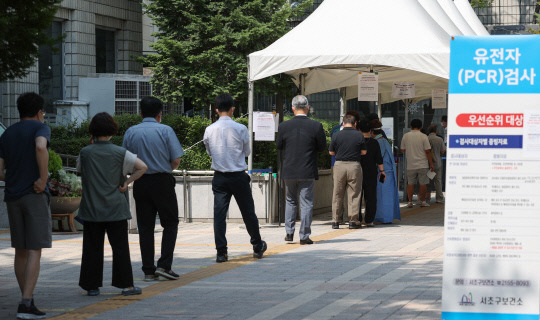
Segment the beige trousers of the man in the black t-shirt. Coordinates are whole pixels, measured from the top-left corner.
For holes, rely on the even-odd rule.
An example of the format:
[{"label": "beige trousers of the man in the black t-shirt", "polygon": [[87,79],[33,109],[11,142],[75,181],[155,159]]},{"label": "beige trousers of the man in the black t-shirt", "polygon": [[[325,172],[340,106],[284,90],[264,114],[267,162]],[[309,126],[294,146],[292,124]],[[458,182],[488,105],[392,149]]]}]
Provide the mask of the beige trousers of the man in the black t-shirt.
[{"label": "beige trousers of the man in the black t-shirt", "polygon": [[360,194],[362,192],[362,166],[357,161],[336,161],[334,164],[334,194],[332,221],[339,222],[343,198],[347,190],[349,221],[359,221]]}]

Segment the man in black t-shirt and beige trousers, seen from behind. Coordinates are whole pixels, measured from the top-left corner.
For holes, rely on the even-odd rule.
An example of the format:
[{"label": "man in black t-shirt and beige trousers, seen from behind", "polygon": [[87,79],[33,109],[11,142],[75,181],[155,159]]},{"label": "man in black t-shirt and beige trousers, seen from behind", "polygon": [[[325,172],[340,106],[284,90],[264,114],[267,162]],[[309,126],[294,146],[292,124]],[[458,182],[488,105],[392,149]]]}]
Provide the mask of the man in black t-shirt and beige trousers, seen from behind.
[{"label": "man in black t-shirt and beige trousers, seen from behind", "polygon": [[356,120],[352,115],[343,117],[343,130],[332,137],[330,155],[335,155],[334,193],[332,196],[332,228],[339,228],[339,218],[343,207],[343,197],[347,189],[349,228],[360,228],[360,193],[362,191],[361,155],[366,154],[364,136],[356,130]]}]

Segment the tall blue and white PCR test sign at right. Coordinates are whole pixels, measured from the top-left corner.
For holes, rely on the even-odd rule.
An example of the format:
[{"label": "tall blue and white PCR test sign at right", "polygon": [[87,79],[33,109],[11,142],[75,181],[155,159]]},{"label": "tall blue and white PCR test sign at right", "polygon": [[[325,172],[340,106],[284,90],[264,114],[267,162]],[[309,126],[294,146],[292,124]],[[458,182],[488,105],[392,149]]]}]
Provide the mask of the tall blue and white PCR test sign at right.
[{"label": "tall blue and white PCR test sign at right", "polygon": [[538,320],[540,36],[450,48],[442,319]]}]

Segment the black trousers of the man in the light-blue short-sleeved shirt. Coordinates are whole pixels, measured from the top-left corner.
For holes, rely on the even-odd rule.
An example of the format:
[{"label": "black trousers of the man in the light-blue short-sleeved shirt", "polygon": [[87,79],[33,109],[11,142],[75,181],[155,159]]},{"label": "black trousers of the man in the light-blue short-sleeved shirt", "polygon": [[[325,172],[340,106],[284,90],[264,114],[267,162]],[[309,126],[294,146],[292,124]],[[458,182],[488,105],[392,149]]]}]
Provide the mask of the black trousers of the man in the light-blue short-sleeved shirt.
[{"label": "black trousers of the man in the light-blue short-sleeved shirt", "polygon": [[161,257],[157,268],[170,270],[174,246],[178,234],[178,201],[174,186],[175,178],[170,173],[145,174],[133,185],[133,198],[137,212],[137,227],[141,246],[142,270],[145,275],[154,274],[154,229],[156,214],[163,227]]}]

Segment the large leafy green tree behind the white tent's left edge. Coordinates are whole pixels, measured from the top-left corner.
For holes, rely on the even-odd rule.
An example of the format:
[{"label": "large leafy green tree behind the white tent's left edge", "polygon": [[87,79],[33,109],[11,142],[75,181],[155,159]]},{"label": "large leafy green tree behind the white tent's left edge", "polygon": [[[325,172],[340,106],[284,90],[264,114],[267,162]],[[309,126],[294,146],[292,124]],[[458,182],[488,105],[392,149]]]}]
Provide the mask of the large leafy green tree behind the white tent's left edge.
[{"label": "large leafy green tree behind the white tent's left edge", "polygon": [[[288,21],[312,1],[291,8],[288,0],[153,0],[145,6],[159,31],[157,52],[141,61],[153,68],[154,90],[167,102],[182,97],[202,108],[228,92],[247,102],[247,56],[290,30]],[[282,90],[286,77],[257,82],[257,90]],[[275,91],[274,91],[275,93]],[[245,110],[245,108],[243,108]]]}]

